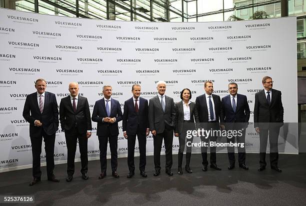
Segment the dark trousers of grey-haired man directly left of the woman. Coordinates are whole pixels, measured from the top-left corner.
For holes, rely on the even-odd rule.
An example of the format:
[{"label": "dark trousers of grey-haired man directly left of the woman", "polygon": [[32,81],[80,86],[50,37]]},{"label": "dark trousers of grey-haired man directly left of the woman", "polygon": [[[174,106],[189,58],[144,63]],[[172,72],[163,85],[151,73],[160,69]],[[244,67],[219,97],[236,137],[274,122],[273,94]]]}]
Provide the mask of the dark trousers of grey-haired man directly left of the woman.
[{"label": "dark trousers of grey-haired man directly left of the woman", "polygon": [[173,128],[167,125],[162,133],[157,133],[156,136],[153,137],[155,171],[160,171],[160,151],[162,139],[164,141],[165,148],[165,169],[167,171],[172,167]]}]

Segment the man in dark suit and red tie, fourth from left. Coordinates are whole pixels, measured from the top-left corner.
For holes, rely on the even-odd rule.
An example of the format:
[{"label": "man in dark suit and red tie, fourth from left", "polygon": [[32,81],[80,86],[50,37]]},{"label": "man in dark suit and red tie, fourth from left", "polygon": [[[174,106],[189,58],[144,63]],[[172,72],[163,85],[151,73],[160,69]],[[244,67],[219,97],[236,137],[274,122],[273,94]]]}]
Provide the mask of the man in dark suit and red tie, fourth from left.
[{"label": "man in dark suit and red tie, fourth from left", "polygon": [[122,130],[124,138],[127,139],[127,165],[129,173],[127,178],[131,178],[134,175],[135,164],[134,164],[134,150],[136,135],[138,138],[139,147],[139,170],[142,177],[146,177],[145,172],[145,146],[146,137],[149,134],[148,128],[148,106],[147,100],[140,97],[141,87],[139,84],[132,85],[133,96],[124,101],[124,111],[122,118]]}]

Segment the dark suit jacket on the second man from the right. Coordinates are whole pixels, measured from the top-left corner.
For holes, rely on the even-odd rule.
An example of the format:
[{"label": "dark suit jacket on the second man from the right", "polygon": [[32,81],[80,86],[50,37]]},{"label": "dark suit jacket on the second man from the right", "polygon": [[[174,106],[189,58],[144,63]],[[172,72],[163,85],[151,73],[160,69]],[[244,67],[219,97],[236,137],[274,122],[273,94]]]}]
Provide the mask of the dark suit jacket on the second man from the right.
[{"label": "dark suit jacket on the second man from the right", "polygon": [[234,112],[232,110],[231,106],[231,98],[230,94],[227,96],[224,96],[221,100],[221,105],[222,105],[222,121],[225,122],[237,122],[238,125],[237,127],[240,128],[246,128],[248,126],[248,119],[249,119],[249,106],[247,103],[247,98],[243,94],[237,93],[236,96],[236,111]]}]

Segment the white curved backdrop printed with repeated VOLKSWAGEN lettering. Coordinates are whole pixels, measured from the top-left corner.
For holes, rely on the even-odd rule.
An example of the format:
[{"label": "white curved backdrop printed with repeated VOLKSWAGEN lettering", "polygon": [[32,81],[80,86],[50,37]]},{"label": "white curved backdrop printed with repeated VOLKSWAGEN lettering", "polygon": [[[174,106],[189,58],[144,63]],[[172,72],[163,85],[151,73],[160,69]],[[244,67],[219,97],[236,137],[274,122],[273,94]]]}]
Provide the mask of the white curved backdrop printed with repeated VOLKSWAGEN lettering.
[{"label": "white curved backdrop printed with repeated VOLKSWAGEN lettering", "polygon": [[[28,123],[22,117],[27,94],[35,91],[34,80],[47,80],[47,91],[57,103],[68,95],[68,83],[79,83],[92,112],[102,97],[103,84],[113,88],[113,98],[131,97],[131,85],[141,84],[144,98],[157,94],[155,83],[167,82],[166,95],[179,101],[188,87],[192,101],[203,93],[203,82],[214,83],[215,94],[227,95],[235,81],[247,95],[251,112],[254,93],[262,89],[261,78],[269,75],[273,87],[282,91],[286,134],[280,132],[280,152],[297,153],[296,17],[236,22],[130,22],[82,19],[0,9],[0,171],[31,165]],[[250,121],[253,120],[251,113]],[[99,155],[92,122],[88,141],[89,159]],[[127,141],[121,122],[118,154],[126,156]],[[284,140],[286,139],[286,140]],[[153,152],[147,137],[147,154]],[[253,124],[246,132],[246,151],[258,152],[259,136]],[[43,147],[43,146],[42,146]],[[173,153],[178,140],[173,140]],[[43,149],[42,149],[43,150]],[[136,153],[138,152],[136,143]],[[226,152],[226,148],[219,148]],[[43,151],[44,152],[44,151]],[[44,153],[41,161],[45,161]],[[193,148],[200,152],[200,148]],[[66,159],[64,133],[55,139],[55,160]],[[109,154],[109,149],[108,149]],[[76,154],[79,157],[79,154]]]}]

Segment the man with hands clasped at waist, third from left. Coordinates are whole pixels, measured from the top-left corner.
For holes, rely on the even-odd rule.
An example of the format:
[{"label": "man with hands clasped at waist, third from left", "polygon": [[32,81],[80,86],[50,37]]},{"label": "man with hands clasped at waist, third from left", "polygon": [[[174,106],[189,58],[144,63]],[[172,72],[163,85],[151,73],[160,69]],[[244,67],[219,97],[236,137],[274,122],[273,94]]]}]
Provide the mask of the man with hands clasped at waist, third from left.
[{"label": "man with hands clasped at waist, third from left", "polygon": [[101,173],[99,179],[106,176],[106,151],[109,142],[112,176],[119,178],[117,173],[118,122],[122,120],[119,101],[111,98],[110,85],[103,86],[104,97],[94,103],[91,119],[97,122],[96,135],[99,139]]}]

